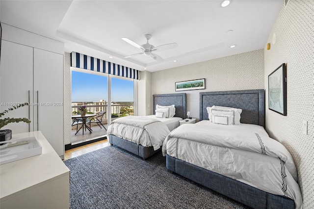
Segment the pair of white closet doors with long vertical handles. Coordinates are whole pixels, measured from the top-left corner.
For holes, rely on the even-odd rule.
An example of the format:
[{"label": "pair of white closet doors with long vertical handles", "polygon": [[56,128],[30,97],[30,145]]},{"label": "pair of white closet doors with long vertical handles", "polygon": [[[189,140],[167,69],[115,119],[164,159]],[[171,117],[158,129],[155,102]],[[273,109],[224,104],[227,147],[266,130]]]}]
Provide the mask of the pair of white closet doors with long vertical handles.
[{"label": "pair of white closet doors with long vertical handles", "polygon": [[32,104],[5,114],[5,117],[29,118],[30,124],[11,123],[3,129],[12,130],[13,134],[42,131],[61,158],[64,156],[63,60],[60,53],[2,40],[0,111],[13,103]]}]

